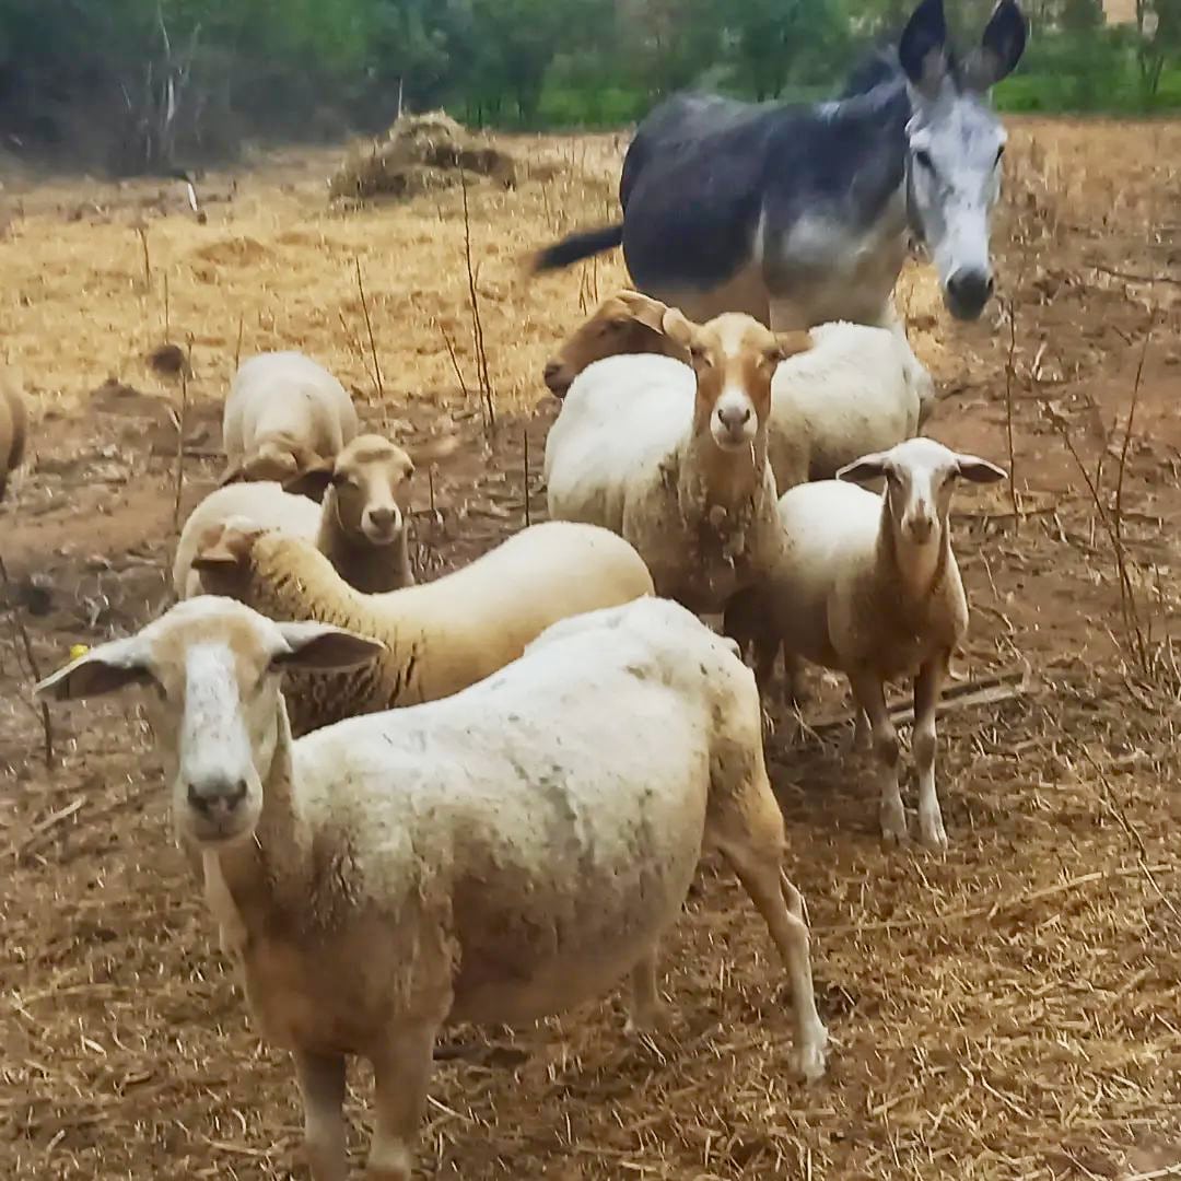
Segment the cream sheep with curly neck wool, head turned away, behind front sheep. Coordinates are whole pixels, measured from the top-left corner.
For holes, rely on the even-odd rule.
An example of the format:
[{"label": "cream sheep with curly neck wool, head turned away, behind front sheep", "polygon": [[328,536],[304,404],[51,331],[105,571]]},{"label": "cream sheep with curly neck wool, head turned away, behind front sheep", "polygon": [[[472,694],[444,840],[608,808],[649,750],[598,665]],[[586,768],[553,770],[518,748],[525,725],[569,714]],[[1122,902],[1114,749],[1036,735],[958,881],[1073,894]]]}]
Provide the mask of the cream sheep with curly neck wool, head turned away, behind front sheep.
[{"label": "cream sheep with curly neck wool, head turned away, behind front sheep", "polygon": [[452,574],[389,594],[358,593],[306,541],[234,521],[205,539],[194,568],[213,593],[272,619],[340,624],[387,645],[355,672],[294,677],[296,735],[458,692],[559,619],[653,590],[627,542],[569,522],[530,526]]}]

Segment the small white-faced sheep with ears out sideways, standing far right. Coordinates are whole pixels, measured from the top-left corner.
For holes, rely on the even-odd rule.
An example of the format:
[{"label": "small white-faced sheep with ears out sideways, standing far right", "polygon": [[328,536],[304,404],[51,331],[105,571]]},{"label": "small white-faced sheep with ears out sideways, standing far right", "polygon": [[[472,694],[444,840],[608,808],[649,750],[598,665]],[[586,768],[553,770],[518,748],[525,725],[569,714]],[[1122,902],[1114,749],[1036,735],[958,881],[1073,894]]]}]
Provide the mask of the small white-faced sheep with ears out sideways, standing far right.
[{"label": "small white-faced sheep with ears out sideways, standing far right", "polygon": [[[879,477],[880,495],[843,483]],[[987,459],[920,437],[862,456],[836,479],[789,489],[779,500],[787,544],[778,568],[726,611],[726,634],[753,645],[761,687],[781,642],[790,655],[849,678],[859,730],[866,719],[872,727],[887,841],[905,841],[907,828],[885,684],[913,677],[919,829],[926,844],[947,844],[935,794],[935,711],[968,622],[947,517],[957,478],[1005,477]]]}]

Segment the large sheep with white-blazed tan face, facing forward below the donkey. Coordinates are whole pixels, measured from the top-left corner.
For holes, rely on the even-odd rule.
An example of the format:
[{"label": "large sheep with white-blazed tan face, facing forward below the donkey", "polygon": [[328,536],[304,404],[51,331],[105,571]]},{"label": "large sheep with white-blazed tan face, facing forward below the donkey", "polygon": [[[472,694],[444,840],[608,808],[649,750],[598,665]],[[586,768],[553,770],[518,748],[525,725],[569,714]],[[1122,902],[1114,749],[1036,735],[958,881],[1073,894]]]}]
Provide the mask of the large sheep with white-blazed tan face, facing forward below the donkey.
[{"label": "large sheep with white-blazed tan face, facing forward below the donkey", "polygon": [[717,613],[779,544],[766,462],[771,374],[808,338],[777,339],[737,313],[696,325],[674,308],[663,308],[660,331],[692,368],[608,357],[572,384],[546,441],[549,515],[620,534],[657,594]]}]

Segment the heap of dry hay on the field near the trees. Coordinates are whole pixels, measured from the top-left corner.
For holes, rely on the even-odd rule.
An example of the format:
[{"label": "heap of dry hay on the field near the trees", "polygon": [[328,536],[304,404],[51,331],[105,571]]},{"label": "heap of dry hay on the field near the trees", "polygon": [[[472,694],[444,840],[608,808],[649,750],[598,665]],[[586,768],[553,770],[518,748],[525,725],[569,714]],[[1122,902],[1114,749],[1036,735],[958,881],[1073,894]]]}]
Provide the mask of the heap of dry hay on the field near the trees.
[{"label": "heap of dry hay on the field near the trees", "polygon": [[348,155],[328,178],[328,193],[334,200],[354,201],[435,193],[458,184],[461,169],[507,189],[517,181],[517,164],[508,152],[471,135],[443,111],[404,115],[384,139]]}]

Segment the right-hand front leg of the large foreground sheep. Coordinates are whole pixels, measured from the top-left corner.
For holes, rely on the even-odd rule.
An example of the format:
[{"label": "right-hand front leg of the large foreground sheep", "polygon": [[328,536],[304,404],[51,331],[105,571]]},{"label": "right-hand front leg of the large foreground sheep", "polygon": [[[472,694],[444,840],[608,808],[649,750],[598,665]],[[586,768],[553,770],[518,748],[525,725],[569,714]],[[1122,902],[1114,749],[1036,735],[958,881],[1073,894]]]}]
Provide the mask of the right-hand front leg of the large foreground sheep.
[{"label": "right-hand front leg of the large foreground sheep", "polygon": [[410,1181],[412,1146],[426,1107],[436,1026],[420,1024],[393,1033],[371,1055],[376,1121],[368,1181]]}]

